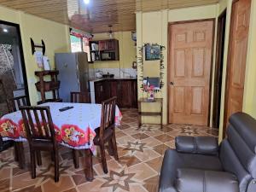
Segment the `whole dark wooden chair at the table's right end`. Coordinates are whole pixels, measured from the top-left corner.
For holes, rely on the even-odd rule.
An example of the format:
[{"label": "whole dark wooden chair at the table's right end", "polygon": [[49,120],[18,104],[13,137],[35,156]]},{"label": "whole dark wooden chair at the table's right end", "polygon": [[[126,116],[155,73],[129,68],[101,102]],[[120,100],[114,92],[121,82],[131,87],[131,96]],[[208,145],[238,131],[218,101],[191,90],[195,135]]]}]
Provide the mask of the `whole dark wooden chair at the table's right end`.
[{"label": "whole dark wooden chair at the table's right end", "polygon": [[102,102],[101,126],[100,128],[96,129],[96,137],[94,138],[94,144],[98,145],[101,150],[103,172],[105,173],[108,173],[104,146],[105,143],[108,142],[109,154],[113,155],[115,160],[119,160],[114,132],[116,99],[117,97],[114,96]]}]

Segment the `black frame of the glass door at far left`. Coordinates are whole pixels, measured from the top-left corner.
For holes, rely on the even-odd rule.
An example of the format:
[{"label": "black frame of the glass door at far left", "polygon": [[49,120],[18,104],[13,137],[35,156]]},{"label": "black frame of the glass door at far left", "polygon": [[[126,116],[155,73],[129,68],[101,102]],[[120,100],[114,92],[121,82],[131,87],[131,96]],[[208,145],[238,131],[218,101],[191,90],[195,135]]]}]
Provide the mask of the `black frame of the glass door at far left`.
[{"label": "black frame of the glass door at far left", "polygon": [[28,83],[27,83],[27,77],[26,77],[26,65],[24,60],[24,52],[23,52],[23,46],[22,46],[22,40],[21,40],[21,34],[20,34],[20,25],[5,21],[5,20],[0,20],[0,24],[7,25],[7,26],[15,26],[15,28],[17,29],[19,49],[20,49],[20,64],[21,64],[21,71],[22,71],[22,76],[24,81],[24,90],[28,99],[27,104],[30,105],[30,97],[29,97]]}]

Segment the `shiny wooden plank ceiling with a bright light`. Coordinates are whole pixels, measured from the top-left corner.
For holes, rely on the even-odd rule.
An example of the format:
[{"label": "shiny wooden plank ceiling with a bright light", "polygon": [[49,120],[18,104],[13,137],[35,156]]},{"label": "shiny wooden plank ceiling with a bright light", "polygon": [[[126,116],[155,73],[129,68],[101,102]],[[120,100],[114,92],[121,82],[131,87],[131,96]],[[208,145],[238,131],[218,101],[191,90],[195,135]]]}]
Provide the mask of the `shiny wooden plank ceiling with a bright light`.
[{"label": "shiny wooden plank ceiling with a bright light", "polygon": [[136,30],[136,11],[177,9],[218,3],[218,0],[0,0],[0,5],[55,20],[85,32]]}]

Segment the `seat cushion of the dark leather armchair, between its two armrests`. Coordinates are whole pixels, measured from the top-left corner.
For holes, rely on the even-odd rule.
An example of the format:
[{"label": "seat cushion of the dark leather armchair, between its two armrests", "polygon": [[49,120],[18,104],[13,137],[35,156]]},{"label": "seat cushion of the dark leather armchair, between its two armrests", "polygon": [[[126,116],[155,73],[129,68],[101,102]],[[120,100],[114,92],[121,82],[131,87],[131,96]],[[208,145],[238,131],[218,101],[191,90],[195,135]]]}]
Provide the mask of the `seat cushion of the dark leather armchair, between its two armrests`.
[{"label": "seat cushion of the dark leather armchair, between its two armrests", "polygon": [[174,182],[178,168],[222,171],[218,156],[203,154],[183,154],[167,149],[160,173],[160,192],[176,192]]}]

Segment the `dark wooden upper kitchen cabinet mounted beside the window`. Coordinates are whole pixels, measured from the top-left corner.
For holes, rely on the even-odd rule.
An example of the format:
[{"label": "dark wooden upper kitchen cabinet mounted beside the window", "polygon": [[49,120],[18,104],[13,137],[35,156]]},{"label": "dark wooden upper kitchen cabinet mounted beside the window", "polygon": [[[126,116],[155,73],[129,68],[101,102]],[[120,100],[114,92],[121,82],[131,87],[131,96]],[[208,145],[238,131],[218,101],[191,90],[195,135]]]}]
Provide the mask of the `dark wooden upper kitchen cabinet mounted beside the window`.
[{"label": "dark wooden upper kitchen cabinet mounted beside the window", "polygon": [[91,61],[119,61],[119,41],[116,39],[91,41]]}]

